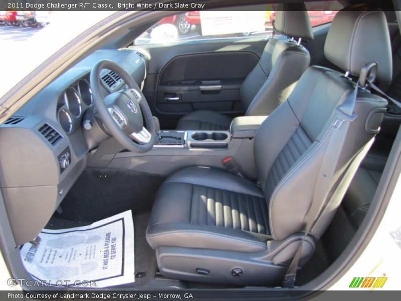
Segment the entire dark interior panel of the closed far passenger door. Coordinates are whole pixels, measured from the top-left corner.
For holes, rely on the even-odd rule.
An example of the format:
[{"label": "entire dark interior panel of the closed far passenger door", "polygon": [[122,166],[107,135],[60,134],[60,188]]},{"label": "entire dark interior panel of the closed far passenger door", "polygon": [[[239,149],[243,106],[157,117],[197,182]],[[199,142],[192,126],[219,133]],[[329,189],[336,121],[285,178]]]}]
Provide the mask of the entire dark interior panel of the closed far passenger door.
[{"label": "entire dark interior panel of the closed far passenger door", "polygon": [[243,113],[240,89],[266,43],[234,38],[135,47],[150,57],[143,92],[161,127],[175,128],[182,115],[194,110]]}]

